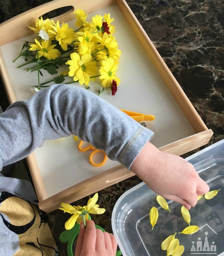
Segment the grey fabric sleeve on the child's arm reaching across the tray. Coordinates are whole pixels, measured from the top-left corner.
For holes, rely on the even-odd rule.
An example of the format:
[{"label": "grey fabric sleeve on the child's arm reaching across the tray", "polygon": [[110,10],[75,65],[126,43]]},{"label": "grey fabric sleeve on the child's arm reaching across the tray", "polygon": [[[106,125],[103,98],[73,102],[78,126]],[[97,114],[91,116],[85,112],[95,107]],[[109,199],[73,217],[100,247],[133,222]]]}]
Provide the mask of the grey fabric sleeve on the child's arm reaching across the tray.
[{"label": "grey fabric sleeve on the child's arm reaching across the tray", "polygon": [[105,150],[130,169],[153,132],[99,96],[72,85],[52,85],[0,114],[0,170],[27,157],[46,139],[71,134]]}]

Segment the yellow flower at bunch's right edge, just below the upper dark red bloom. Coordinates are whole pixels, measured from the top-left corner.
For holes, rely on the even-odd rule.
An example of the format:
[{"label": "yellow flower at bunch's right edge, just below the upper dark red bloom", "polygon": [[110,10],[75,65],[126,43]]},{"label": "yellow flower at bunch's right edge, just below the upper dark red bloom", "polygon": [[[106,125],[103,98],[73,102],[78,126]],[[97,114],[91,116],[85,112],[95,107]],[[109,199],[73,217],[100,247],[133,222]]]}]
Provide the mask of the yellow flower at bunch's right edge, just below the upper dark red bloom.
[{"label": "yellow flower at bunch's right edge, just below the upper dark red bloom", "polygon": [[121,50],[118,49],[118,43],[116,42],[114,36],[104,33],[103,37],[97,36],[97,41],[100,43],[97,48],[98,50],[101,50],[103,48],[106,49],[106,54],[105,51],[97,52],[98,60],[105,60],[107,57],[119,60],[121,56]]}]

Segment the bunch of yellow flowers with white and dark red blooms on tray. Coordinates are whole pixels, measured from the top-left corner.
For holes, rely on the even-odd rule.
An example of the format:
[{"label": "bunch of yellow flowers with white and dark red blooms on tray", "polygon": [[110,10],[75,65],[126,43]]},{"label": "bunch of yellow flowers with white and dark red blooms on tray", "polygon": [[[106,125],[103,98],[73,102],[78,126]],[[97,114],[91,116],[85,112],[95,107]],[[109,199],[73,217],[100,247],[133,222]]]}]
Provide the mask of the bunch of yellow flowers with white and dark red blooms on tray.
[{"label": "bunch of yellow flowers with white and dark red blooms on tray", "polygon": [[[105,13],[104,16],[95,15],[91,22],[87,22],[84,10],[77,9],[74,14],[75,25],[78,27],[76,30],[65,22],[60,25],[59,21],[55,23],[50,19],[38,18],[36,27],[29,27],[38,34],[38,39],[34,43],[25,41],[22,49],[27,49],[18,57],[24,56],[27,62],[19,67],[35,64],[27,69],[31,72],[38,71],[38,85],[32,88],[33,92],[47,87],[49,82],[62,83],[66,76],[71,76],[74,80],[72,82],[84,84],[87,89],[90,88],[90,81],[99,78],[102,91],[110,88],[113,96],[120,82],[116,72],[121,56],[121,50],[113,36],[115,27],[111,23],[114,19],[110,13]],[[58,67],[63,65],[68,65],[65,72],[50,81],[40,83],[39,75],[43,76],[41,69],[54,75]],[[98,95],[102,91],[99,89]]]}]

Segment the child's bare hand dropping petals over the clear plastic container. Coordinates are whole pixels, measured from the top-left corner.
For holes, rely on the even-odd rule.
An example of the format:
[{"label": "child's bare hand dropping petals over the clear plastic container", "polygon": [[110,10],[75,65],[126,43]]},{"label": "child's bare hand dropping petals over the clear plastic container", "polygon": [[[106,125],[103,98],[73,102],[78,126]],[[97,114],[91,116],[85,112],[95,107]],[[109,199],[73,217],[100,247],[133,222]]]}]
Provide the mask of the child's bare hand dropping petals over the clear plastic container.
[{"label": "child's bare hand dropping petals over the clear plastic container", "polygon": [[183,158],[163,153],[147,142],[131,165],[131,170],[154,192],[183,204],[187,209],[197,204],[197,196],[209,192],[192,164]]}]

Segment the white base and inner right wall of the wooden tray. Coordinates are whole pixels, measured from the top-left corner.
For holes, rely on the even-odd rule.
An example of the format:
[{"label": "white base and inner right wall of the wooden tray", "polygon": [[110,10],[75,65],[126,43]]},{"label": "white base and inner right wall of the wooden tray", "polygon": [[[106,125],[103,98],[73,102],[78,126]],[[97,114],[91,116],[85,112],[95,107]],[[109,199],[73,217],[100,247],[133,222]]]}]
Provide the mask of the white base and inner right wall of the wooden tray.
[{"label": "white base and inner right wall of the wooden tray", "polygon": [[[155,115],[155,120],[146,122],[146,125],[148,129],[156,132],[151,141],[156,147],[195,134],[119,8],[113,5],[93,12],[88,15],[87,21],[90,22],[91,17],[96,14],[103,16],[105,13],[111,13],[111,18],[115,18],[112,23],[116,28],[114,36],[122,51],[117,72],[121,83],[115,96],[112,97],[111,91],[107,90],[100,97],[120,109]],[[69,21],[69,26],[75,28],[74,22],[75,20]],[[29,99],[32,96],[29,88],[37,85],[37,73],[27,72],[28,65],[20,69],[16,68],[24,63],[23,57],[15,63],[12,62],[20,53],[24,41],[33,42],[34,38],[35,35],[31,35],[0,46],[17,100]],[[63,67],[59,68],[59,73],[63,70],[65,70]],[[43,74],[44,78],[41,77],[40,82],[52,79],[52,76],[45,70]],[[72,78],[66,81],[70,82]],[[75,85],[81,86],[77,83]],[[93,93],[96,93],[99,87],[102,90],[98,79],[95,82],[91,81],[90,87]],[[102,167],[91,166],[88,162],[90,151],[81,153],[77,146],[78,142],[74,142],[73,136],[69,136],[54,141],[45,141],[43,147],[35,150],[48,196],[55,195],[119,164],[108,159]]]}]

